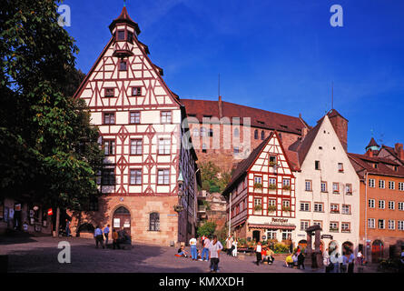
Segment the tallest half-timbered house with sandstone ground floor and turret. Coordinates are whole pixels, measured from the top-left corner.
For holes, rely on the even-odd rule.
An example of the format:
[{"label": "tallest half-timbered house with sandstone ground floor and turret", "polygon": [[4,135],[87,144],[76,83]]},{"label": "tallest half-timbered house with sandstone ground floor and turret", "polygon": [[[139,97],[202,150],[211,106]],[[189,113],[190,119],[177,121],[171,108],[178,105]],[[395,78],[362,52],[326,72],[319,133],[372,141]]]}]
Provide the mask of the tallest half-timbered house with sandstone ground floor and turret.
[{"label": "tallest half-timbered house with sandstone ground floor and turret", "polygon": [[[103,196],[74,219],[73,232],[109,224],[126,229],[135,241],[188,241],[200,178],[195,152],[181,142],[185,108],[164,83],[163,69],[153,65],[126,7],[109,29],[111,39],[75,93],[100,130]],[[174,211],[178,205],[182,211]]]}]

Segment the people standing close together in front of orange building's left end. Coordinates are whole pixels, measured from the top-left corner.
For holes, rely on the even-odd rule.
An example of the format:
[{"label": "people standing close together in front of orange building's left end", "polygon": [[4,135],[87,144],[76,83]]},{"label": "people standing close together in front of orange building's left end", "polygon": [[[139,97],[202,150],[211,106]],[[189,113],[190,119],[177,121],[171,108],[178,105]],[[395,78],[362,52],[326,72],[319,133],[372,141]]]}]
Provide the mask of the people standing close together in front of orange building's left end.
[{"label": "people standing close together in front of orange building's left end", "polygon": [[352,250],[347,249],[345,254],[340,255],[337,249],[329,254],[329,249],[327,248],[323,258],[326,273],[353,273],[355,255]]}]

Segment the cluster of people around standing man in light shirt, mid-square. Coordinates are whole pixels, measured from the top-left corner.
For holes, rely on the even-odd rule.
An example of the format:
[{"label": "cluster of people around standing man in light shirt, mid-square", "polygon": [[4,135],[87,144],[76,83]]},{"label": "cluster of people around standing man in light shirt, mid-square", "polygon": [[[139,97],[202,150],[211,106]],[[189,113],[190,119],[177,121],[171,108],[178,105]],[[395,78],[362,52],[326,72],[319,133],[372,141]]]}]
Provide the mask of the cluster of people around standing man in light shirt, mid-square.
[{"label": "cluster of people around standing man in light shirt, mid-square", "polygon": [[[212,239],[212,240],[211,240]],[[216,273],[219,269],[219,261],[222,251],[222,243],[217,239],[217,236],[202,236],[201,238],[201,246],[202,249],[198,250],[197,248],[197,240],[192,237],[190,239],[191,246],[191,258],[192,261],[205,261],[208,262],[211,259],[211,266],[209,267],[212,273]],[[188,252],[185,250],[184,246],[181,246],[178,249],[178,252],[175,256],[184,256],[188,257]]]}]

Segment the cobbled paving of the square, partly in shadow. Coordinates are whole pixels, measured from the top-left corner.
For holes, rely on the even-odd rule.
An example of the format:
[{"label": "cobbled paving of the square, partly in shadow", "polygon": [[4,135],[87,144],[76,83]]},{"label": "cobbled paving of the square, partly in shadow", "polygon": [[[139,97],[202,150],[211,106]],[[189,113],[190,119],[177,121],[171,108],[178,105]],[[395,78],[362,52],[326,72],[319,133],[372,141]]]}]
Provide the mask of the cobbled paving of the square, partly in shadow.
[{"label": "cobbled paving of the square, partly in shadow", "polygon": [[[71,264],[60,264],[57,255],[60,241],[71,244]],[[189,247],[187,247],[189,249]],[[96,249],[94,240],[86,238],[53,238],[49,236],[0,236],[0,255],[8,255],[8,272],[144,272],[144,273],[207,273],[208,262],[176,257],[176,248],[134,244],[131,250]],[[281,259],[281,258],[280,258]],[[221,273],[312,273],[287,268],[281,260],[271,266],[256,266],[253,256],[231,257],[222,254]],[[372,269],[365,272],[374,272]]]}]

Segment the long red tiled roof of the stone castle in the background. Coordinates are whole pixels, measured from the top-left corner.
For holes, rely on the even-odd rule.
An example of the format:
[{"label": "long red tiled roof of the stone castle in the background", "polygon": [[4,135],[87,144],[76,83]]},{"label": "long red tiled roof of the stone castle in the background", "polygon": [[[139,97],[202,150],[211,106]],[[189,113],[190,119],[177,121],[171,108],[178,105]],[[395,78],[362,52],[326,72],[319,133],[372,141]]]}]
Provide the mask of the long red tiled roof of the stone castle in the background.
[{"label": "long red tiled roof of the stone castle in the background", "polygon": [[[204,115],[219,116],[219,101],[181,99],[181,102],[187,108],[189,115],[195,115],[200,122]],[[244,117],[251,118],[251,126],[260,127],[280,132],[293,133],[301,135],[301,130],[307,124],[300,117],[291,115],[282,115],[271,111],[252,108],[245,105],[237,105],[222,101],[222,116],[240,117],[241,125]],[[231,120],[232,121],[232,120]]]}]

